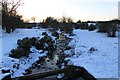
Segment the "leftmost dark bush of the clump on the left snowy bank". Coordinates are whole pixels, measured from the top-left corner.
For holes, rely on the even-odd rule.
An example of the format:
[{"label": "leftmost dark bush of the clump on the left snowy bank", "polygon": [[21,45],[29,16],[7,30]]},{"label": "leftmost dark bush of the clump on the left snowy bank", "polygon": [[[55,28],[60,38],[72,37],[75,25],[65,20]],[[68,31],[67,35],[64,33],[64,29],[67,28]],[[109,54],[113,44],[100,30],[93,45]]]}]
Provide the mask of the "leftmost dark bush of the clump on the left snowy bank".
[{"label": "leftmost dark bush of the clump on the left snowy bank", "polygon": [[34,42],[35,38],[23,38],[18,39],[17,44],[18,47],[16,49],[11,50],[11,54],[9,54],[10,57],[13,58],[20,58],[20,57],[28,57],[30,53],[30,48],[32,47],[31,41]]}]

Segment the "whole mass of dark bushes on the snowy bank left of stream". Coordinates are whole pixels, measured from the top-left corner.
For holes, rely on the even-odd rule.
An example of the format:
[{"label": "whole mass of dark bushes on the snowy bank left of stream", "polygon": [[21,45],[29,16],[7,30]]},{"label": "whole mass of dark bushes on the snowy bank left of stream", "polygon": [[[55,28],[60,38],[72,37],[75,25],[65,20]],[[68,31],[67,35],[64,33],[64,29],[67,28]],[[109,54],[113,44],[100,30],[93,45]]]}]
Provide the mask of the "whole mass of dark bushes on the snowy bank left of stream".
[{"label": "whole mass of dark bushes on the snowy bank left of stream", "polygon": [[28,57],[32,46],[37,50],[43,50],[43,52],[48,51],[48,55],[51,55],[56,49],[55,42],[46,32],[43,32],[42,34],[44,37],[41,39],[37,37],[18,39],[18,47],[16,49],[12,49],[9,56],[13,58]]}]

